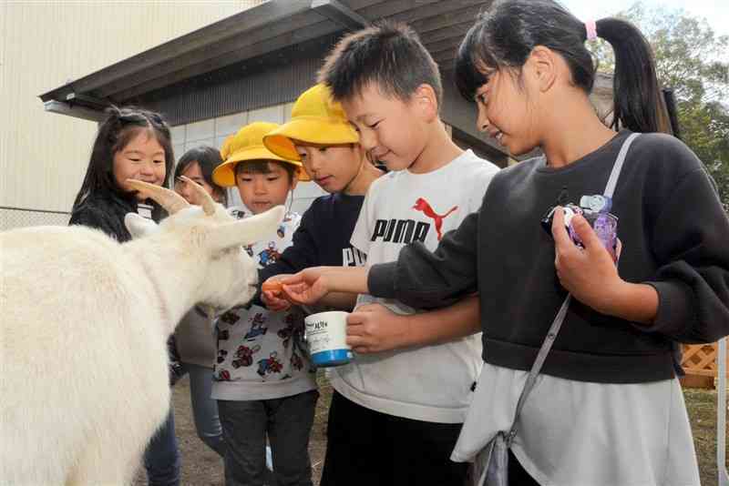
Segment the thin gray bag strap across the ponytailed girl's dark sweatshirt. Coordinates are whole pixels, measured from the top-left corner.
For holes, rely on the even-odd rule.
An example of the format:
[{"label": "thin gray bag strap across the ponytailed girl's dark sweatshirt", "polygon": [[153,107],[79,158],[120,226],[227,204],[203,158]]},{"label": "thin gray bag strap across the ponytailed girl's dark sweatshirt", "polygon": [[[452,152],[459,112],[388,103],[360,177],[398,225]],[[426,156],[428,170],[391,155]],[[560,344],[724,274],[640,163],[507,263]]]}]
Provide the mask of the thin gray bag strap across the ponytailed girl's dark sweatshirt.
[{"label": "thin gray bag strap across the ponytailed girl's dark sweatshirt", "polygon": [[[610,178],[608,178],[608,184],[605,186],[605,196],[612,197],[613,193],[615,192],[615,186],[618,184],[618,177],[621,177],[622,165],[625,162],[625,157],[628,155],[628,149],[630,149],[633,140],[635,140],[635,138],[637,138],[639,135],[640,134],[633,133],[628,136],[628,138],[626,138],[625,141],[622,143],[622,147],[620,152],[618,153],[618,157],[615,158],[615,163],[612,165],[612,172],[610,174]],[[514,436],[517,434],[516,425],[517,420],[519,420],[519,414],[521,413],[521,409],[524,407],[524,402],[527,400],[531,389],[534,388],[534,384],[537,381],[537,377],[539,376],[539,371],[544,364],[544,360],[547,359],[547,355],[549,354],[549,349],[552,348],[554,340],[557,339],[557,334],[560,332],[562,322],[564,322],[564,318],[567,317],[567,309],[570,307],[571,299],[571,294],[567,294],[567,297],[564,298],[564,301],[562,302],[562,307],[560,307],[559,312],[557,312],[557,316],[555,316],[554,320],[552,321],[552,325],[549,327],[547,337],[544,339],[544,342],[542,342],[541,348],[539,348],[537,359],[534,359],[534,364],[531,366],[531,370],[529,370],[529,377],[527,378],[527,382],[524,384],[524,390],[521,390],[521,395],[519,395],[519,402],[517,402],[517,412],[514,415],[514,421],[511,424],[511,428],[508,431],[508,435],[506,438],[509,446],[511,445],[511,440],[513,440]]]}]

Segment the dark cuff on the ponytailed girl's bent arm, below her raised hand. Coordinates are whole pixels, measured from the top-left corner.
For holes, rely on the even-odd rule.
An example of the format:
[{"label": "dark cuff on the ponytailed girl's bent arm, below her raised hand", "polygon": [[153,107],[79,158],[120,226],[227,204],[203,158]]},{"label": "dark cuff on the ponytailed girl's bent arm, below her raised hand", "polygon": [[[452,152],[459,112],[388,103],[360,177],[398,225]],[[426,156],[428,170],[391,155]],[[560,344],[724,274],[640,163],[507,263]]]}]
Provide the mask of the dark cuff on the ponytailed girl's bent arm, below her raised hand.
[{"label": "dark cuff on the ponytailed girl's bent arm, below her raised hand", "polygon": [[691,296],[693,290],[683,282],[660,281],[644,282],[658,292],[658,312],[651,326],[640,326],[645,332],[660,332],[667,336],[681,336],[684,329],[693,326]]}]

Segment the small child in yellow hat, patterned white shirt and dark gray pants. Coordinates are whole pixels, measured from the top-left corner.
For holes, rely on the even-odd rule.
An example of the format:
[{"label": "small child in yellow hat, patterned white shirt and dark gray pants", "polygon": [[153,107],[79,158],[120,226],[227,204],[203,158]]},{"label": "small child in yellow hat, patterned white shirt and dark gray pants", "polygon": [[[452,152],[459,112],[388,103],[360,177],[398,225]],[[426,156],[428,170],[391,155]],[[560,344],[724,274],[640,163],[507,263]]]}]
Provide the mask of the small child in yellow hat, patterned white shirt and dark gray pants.
[{"label": "small child in yellow hat, patterned white shirt and dark gray pants", "polygon": [[[296,183],[308,178],[301,162],[263,146],[263,136],[278,127],[263,122],[242,127],[223,144],[224,162],[212,173],[216,184],[238,187],[252,214],[284,205]],[[275,264],[292,245],[301,220],[290,211],[275,233],[245,248],[259,271]],[[311,484],[308,445],[319,393],[303,344],[301,310],[277,312],[252,303],[223,314],[215,328],[211,397],[218,403],[225,440],[226,484],[262,483],[267,435],[275,483]]]}]

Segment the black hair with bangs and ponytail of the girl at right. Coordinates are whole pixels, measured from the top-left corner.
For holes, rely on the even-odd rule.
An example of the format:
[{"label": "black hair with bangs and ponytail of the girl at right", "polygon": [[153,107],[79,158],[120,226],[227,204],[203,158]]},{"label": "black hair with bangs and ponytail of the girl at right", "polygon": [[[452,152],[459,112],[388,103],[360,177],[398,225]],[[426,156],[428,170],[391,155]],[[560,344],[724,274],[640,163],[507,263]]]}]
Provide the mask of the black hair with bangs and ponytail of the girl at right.
[{"label": "black hair with bangs and ponytail of the girl at right", "polygon": [[461,96],[473,101],[478,86],[488,82],[484,67],[520,69],[534,47],[545,46],[562,56],[570,67],[574,86],[589,95],[596,67],[585,41],[587,29],[595,34],[593,26],[615,51],[612,127],[672,133],[652,49],[641,32],[616,18],[586,25],[553,0],[494,2],[478,15],[458,48],[457,88]]}]

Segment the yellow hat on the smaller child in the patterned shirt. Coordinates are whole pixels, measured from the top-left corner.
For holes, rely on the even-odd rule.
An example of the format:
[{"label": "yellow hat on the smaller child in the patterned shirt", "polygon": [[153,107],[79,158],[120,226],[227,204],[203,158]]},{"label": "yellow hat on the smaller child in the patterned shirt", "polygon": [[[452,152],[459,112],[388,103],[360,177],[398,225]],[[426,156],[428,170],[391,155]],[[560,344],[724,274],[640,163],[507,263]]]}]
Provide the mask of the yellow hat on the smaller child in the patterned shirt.
[{"label": "yellow hat on the smaller child in the patterned shirt", "polygon": [[212,180],[218,186],[235,186],[235,166],[247,160],[278,160],[297,167],[299,180],[310,180],[302,163],[279,157],[263,145],[263,136],[280,127],[276,123],[253,122],[225,139],[221,148],[223,163],[212,171]]}]

